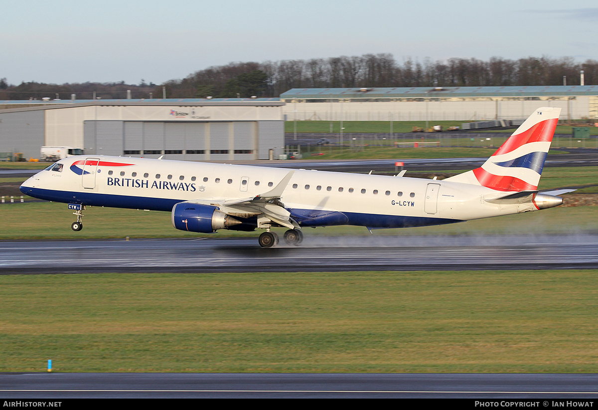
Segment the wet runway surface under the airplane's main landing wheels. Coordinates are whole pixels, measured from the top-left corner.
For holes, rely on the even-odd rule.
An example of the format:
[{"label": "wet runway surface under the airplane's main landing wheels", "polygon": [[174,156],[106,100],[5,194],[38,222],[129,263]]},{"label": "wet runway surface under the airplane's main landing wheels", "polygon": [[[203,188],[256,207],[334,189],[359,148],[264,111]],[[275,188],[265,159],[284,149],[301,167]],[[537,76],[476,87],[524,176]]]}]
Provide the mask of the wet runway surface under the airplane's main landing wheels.
[{"label": "wet runway surface under the airplane's main landing wheels", "polygon": [[3,241],[1,274],[598,268],[598,235]]}]

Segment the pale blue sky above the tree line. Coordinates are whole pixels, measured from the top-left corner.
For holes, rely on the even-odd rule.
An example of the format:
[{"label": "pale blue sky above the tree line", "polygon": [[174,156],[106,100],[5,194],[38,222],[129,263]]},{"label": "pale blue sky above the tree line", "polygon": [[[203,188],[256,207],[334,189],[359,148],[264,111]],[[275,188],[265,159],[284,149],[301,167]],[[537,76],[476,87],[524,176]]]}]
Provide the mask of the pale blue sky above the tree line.
[{"label": "pale blue sky above the tree line", "polygon": [[212,65],[391,53],[598,59],[595,1],[2,1],[0,78],[160,84]]}]

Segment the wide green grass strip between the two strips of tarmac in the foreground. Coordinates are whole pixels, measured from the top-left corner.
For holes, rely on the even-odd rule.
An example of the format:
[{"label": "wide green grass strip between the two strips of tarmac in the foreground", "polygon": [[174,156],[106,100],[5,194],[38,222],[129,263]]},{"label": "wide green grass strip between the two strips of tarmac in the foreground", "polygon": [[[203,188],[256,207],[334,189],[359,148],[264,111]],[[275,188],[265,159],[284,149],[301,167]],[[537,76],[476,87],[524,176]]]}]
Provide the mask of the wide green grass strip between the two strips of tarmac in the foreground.
[{"label": "wide green grass strip between the two strips of tarmac in the foreground", "polygon": [[598,271],[0,277],[0,369],[598,372]]}]

